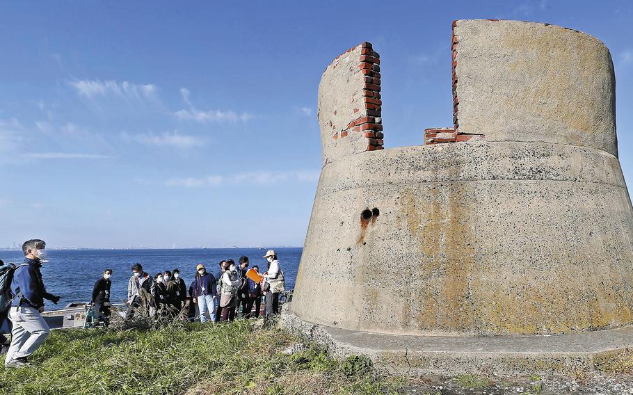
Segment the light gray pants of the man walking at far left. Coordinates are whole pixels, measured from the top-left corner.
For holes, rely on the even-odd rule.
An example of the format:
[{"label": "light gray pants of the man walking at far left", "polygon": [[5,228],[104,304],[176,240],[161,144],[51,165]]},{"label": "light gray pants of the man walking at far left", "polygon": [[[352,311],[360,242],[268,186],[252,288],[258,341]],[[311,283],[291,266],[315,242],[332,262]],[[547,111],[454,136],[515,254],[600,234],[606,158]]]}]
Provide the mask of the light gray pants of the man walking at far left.
[{"label": "light gray pants of the man walking at far left", "polygon": [[5,364],[35,353],[51,332],[42,314],[33,307],[11,307],[9,319],[13,323],[13,330]]}]

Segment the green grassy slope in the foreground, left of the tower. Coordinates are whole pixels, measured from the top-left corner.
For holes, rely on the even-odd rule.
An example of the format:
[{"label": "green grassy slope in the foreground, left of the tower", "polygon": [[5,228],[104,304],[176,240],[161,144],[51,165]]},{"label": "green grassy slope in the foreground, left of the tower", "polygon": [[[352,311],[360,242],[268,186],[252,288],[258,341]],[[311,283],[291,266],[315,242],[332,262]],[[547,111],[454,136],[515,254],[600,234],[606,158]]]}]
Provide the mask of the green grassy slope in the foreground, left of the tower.
[{"label": "green grassy slope in the foreground, left of the tower", "polygon": [[56,330],[33,368],[0,366],[0,394],[394,394],[366,357],[334,360],[275,328],[167,325],[159,330]]}]

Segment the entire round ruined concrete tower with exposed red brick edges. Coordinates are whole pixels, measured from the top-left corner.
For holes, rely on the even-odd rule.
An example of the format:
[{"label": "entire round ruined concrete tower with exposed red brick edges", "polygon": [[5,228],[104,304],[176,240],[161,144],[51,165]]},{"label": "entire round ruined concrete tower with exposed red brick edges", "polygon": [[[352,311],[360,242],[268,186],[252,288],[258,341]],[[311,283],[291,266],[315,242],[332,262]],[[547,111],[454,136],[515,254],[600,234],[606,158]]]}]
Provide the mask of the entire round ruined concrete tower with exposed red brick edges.
[{"label": "entire round ruined concrete tower with exposed red brick edges", "polygon": [[458,20],[454,125],[382,150],[380,57],[319,86],[323,170],[291,314],[330,330],[563,334],[633,321],[633,209],[602,42]]}]

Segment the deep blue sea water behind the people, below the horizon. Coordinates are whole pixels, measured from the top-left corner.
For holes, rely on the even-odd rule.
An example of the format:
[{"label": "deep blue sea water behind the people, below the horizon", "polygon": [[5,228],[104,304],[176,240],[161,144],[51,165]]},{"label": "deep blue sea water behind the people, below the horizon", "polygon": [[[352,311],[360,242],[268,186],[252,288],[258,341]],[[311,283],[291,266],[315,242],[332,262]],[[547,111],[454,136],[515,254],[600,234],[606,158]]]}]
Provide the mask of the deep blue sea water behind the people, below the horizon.
[{"label": "deep blue sea water behind the people, below the horizon", "polygon": [[[280,266],[286,278],[286,289],[294,288],[299,259],[303,248],[275,248]],[[175,250],[47,250],[47,262],[42,265],[42,277],[47,291],[61,296],[58,305],[46,300],[47,309],[57,309],[73,302],[89,302],[95,282],[104,270],[112,269],[112,303],[127,300],[127,281],[131,267],[143,265],[143,271],[152,275],[179,269],[180,276],[189,288],[195,274],[195,266],[204,264],[209,273],[216,275],[218,263],[234,259],[236,264],[242,255],[248,257],[249,267],[259,266],[259,273],[266,271],[267,261],[262,256],[266,250],[259,248],[200,248]],[[5,262],[21,262],[22,251],[0,251]]]}]

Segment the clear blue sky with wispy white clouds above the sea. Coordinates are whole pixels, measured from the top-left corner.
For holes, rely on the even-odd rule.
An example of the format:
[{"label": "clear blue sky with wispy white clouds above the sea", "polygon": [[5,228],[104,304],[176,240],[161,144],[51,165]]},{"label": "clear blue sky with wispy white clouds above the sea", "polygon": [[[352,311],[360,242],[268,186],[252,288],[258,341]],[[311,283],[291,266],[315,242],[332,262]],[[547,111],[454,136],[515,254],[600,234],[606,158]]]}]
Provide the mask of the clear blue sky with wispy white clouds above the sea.
[{"label": "clear blue sky with wispy white clouds above the sea", "polygon": [[5,2],[0,246],[303,245],[326,65],[372,42],[385,147],[422,144],[452,123],[451,21],[469,18],[609,47],[632,185],[629,1]]}]

